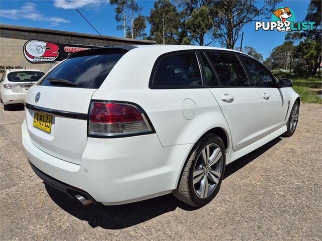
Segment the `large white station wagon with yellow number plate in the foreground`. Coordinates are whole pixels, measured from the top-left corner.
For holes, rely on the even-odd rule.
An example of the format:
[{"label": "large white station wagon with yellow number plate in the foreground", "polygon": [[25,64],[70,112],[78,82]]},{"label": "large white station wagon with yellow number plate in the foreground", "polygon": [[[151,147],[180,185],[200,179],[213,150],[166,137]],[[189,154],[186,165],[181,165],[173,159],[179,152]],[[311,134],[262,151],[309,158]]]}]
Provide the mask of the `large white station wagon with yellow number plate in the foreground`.
[{"label": "large white station wagon with yellow number plate in the foreground", "polygon": [[85,50],[28,91],[23,145],[45,183],[85,205],[173,193],[199,207],[227,164],[293,135],[300,98],[291,86],[233,50]]}]

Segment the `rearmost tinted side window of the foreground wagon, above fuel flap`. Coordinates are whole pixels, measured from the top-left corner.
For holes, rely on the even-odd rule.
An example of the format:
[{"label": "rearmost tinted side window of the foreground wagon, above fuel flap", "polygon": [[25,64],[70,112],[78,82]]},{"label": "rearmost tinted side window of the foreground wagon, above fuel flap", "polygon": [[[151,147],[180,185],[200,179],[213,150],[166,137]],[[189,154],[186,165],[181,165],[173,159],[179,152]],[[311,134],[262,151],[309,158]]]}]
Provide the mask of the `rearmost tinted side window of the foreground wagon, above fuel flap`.
[{"label": "rearmost tinted side window of the foreground wagon, above fuel flap", "polygon": [[196,54],[178,54],[161,60],[154,74],[153,86],[165,88],[202,86]]}]

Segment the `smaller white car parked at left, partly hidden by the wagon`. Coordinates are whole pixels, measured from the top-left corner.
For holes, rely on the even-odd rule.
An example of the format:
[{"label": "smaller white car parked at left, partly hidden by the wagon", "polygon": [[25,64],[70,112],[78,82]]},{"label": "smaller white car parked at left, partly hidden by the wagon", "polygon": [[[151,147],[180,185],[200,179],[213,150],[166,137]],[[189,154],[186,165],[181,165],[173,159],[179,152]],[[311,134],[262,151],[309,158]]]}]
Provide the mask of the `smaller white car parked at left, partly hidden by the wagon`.
[{"label": "smaller white car parked at left, partly hidden by the wagon", "polygon": [[0,100],[5,110],[24,103],[28,89],[45,73],[38,69],[7,69],[0,80]]}]

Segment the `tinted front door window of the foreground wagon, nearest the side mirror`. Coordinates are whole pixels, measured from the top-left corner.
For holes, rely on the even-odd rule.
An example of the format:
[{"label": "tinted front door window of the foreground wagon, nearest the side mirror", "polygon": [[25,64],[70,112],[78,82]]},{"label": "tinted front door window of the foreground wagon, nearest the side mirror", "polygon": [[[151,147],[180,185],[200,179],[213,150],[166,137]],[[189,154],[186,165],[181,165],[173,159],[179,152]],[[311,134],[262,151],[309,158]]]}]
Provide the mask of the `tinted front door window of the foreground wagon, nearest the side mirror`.
[{"label": "tinted front door window of the foreground wagon, nearest the side mirror", "polygon": [[244,61],[244,67],[252,80],[252,83],[258,87],[276,87],[272,80],[272,75],[264,66],[246,56],[241,56]]}]

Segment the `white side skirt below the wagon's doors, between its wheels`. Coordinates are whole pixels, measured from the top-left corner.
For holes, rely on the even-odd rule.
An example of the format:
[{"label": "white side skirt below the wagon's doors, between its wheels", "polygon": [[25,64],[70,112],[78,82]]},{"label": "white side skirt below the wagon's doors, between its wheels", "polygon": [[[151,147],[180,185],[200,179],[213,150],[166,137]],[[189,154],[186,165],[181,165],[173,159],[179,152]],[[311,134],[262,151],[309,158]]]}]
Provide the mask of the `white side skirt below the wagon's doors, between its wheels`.
[{"label": "white side skirt below the wagon's doors, between its wheels", "polygon": [[268,136],[263,137],[262,139],[258,140],[257,142],[255,142],[243,149],[240,149],[237,152],[234,152],[232,149],[227,150],[228,152],[227,152],[226,165],[228,165],[229,163],[232,163],[233,161],[237,160],[238,158],[243,157],[246,154],[260,148],[261,146],[265,145],[266,143],[281,136],[286,131],[287,131],[287,127],[284,126],[280,129],[276,130],[275,132],[269,134]]}]

